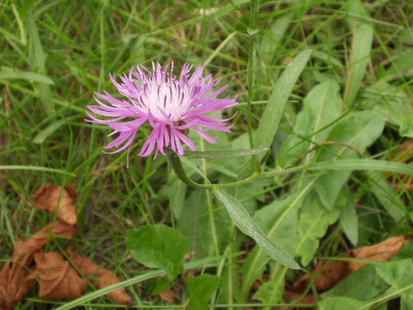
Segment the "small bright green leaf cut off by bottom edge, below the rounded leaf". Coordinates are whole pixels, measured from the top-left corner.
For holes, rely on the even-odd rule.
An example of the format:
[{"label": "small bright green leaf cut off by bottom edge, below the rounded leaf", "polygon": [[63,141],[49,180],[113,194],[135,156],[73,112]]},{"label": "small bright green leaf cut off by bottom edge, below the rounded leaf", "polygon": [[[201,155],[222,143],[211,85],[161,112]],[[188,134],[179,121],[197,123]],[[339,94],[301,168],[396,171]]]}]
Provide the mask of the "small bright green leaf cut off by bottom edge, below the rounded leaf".
[{"label": "small bright green leaf cut off by bottom edge, below the rounded leaf", "polygon": [[209,310],[208,301],[211,294],[216,291],[220,285],[220,279],[217,276],[204,273],[202,276],[187,278],[187,287],[189,291],[188,310]]}]

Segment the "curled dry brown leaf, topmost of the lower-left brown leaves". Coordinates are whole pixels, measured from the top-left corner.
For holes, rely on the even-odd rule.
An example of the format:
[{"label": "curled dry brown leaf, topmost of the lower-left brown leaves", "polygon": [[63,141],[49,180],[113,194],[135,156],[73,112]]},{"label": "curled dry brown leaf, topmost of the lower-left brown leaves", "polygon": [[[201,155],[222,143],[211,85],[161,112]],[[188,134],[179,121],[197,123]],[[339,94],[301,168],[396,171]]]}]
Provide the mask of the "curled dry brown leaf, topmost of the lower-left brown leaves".
[{"label": "curled dry brown leaf, topmost of the lower-left brown leaves", "polygon": [[54,213],[59,202],[59,196],[61,199],[57,217],[69,225],[76,225],[77,213],[73,206],[74,200],[76,200],[76,192],[73,185],[65,186],[62,193],[61,186],[42,186],[36,194],[32,195],[32,200],[37,209]]}]

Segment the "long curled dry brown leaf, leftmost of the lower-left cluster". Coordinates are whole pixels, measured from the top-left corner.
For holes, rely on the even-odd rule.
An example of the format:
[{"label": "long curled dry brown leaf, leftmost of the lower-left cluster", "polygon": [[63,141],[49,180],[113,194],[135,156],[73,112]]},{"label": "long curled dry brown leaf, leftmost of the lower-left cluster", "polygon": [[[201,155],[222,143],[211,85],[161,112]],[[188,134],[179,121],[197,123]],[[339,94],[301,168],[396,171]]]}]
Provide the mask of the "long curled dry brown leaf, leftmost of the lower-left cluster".
[{"label": "long curled dry brown leaf, leftmost of the lower-left cluster", "polygon": [[[34,252],[41,249],[41,247],[50,240],[49,231],[51,228],[52,223],[48,224],[46,228],[37,231],[36,234],[26,242],[17,242],[12,258],[14,262],[8,275],[7,293],[11,302],[19,302],[28,290],[28,288],[25,288],[25,285],[28,285],[30,281],[33,282],[34,278],[30,280],[29,268],[33,262]],[[73,237],[75,232],[76,226],[56,220],[56,222],[54,222],[52,236]],[[22,289],[25,289],[24,293]]]}]

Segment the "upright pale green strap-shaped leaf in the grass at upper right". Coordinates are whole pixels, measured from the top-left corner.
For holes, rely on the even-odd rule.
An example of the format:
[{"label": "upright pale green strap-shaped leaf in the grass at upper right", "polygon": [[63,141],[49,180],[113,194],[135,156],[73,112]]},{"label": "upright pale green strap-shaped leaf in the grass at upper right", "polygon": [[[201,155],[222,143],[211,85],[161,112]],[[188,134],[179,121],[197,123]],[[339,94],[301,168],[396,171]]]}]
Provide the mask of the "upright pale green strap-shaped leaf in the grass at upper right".
[{"label": "upright pale green strap-shaped leaf in the grass at upper right", "polygon": [[350,54],[350,73],[348,74],[345,101],[347,107],[354,105],[361,82],[366,74],[372,50],[373,28],[371,25],[357,25],[353,30],[353,44]]}]

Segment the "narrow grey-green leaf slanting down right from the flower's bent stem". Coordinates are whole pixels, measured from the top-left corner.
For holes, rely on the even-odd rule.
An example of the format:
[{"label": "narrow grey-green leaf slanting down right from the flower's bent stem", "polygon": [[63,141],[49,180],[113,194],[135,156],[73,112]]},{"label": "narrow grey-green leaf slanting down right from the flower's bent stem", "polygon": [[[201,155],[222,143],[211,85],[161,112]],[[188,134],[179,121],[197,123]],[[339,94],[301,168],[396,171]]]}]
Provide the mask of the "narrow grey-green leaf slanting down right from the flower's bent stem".
[{"label": "narrow grey-green leaf slanting down right from the flower's bent stem", "polygon": [[262,230],[253,222],[251,216],[233,196],[226,194],[220,187],[215,186],[212,193],[224,203],[235,225],[247,236],[250,236],[271,258],[280,264],[292,269],[299,269],[299,265],[282,249],[279,249]]}]

